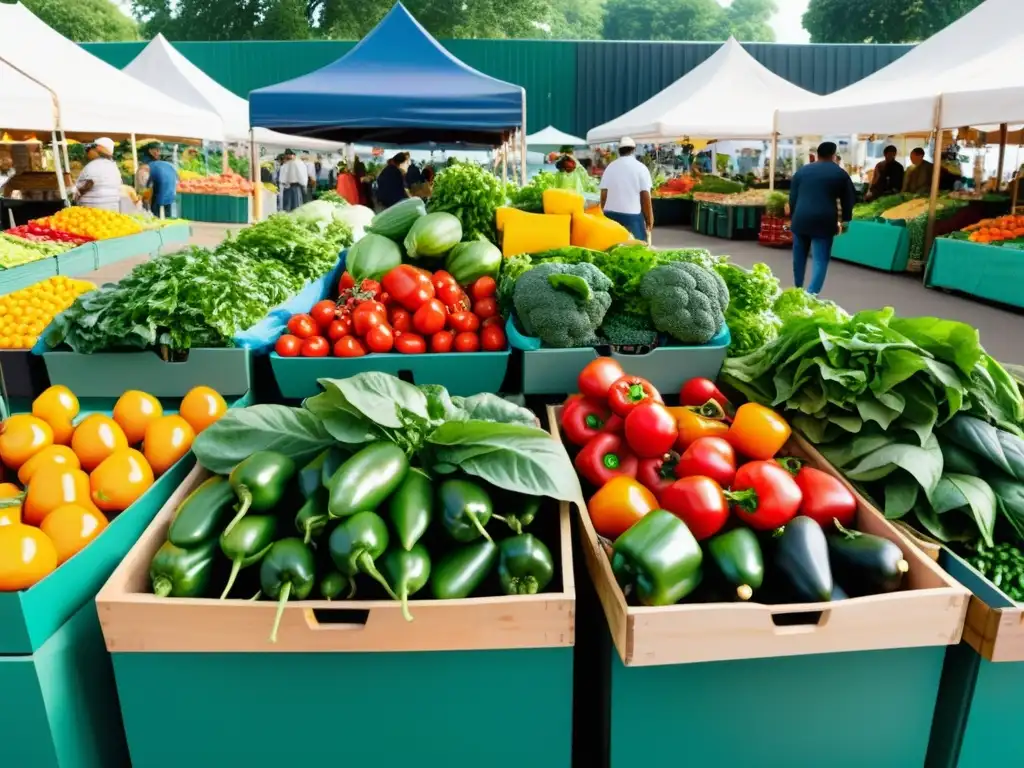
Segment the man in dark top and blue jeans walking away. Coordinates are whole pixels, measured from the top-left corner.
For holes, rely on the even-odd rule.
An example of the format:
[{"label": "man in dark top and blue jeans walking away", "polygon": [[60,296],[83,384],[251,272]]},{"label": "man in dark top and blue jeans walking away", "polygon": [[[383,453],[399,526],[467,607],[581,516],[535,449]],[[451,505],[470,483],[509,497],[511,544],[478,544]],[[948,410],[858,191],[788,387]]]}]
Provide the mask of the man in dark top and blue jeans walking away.
[{"label": "man in dark top and blue jeans walking away", "polygon": [[836,163],[836,148],[831,141],[821,143],[817,160],[797,171],[790,186],[793,282],[797,288],[804,287],[809,255],[811,284],[807,290],[813,294],[824,288],[833,239],[842,227],[840,218],[844,222],[853,218],[857,200],[850,174]]}]

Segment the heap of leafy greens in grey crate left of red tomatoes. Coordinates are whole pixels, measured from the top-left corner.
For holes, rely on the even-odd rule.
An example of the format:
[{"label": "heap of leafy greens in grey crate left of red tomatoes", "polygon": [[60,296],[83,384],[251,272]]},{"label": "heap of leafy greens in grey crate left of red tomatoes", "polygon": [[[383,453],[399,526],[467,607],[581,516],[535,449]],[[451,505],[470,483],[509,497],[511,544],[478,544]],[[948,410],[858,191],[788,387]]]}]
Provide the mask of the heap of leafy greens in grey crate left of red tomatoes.
[{"label": "heap of leafy greens in grey crate left of red tomatoes", "polygon": [[351,241],[340,221],[325,226],[275,214],[213,251],[191,248],[138,264],[57,315],[46,342],[85,354],[230,346],[239,331],[331,271]]}]

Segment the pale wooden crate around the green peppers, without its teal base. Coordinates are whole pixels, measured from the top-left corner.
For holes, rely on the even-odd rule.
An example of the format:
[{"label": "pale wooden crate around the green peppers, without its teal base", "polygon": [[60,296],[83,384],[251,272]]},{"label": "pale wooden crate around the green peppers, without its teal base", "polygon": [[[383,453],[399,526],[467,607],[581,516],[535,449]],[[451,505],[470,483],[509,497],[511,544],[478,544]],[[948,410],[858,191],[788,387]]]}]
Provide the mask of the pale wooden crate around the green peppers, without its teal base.
[{"label": "pale wooden crate around the green peppers, without its teal base", "polygon": [[[409,603],[412,624],[392,600],[292,601],[276,644],[267,641],[276,603],[157,597],[150,587],[150,560],[167,539],[177,505],[208,476],[202,467],[193,470],[96,597],[111,652],[494,650],[574,643],[572,544],[564,508],[559,514],[561,592],[414,599]],[[337,623],[332,614],[348,623]]]}]

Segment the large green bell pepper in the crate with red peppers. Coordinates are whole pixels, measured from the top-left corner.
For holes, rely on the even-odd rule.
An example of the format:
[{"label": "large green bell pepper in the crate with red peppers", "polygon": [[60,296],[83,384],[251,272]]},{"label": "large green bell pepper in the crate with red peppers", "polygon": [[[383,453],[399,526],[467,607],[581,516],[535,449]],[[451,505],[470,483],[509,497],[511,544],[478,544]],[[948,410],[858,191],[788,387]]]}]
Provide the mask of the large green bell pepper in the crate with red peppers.
[{"label": "large green bell pepper in the crate with red peppers", "polygon": [[623,591],[641,605],[672,605],[690,594],[703,575],[703,555],[686,523],[654,509],[612,546],[611,569]]}]

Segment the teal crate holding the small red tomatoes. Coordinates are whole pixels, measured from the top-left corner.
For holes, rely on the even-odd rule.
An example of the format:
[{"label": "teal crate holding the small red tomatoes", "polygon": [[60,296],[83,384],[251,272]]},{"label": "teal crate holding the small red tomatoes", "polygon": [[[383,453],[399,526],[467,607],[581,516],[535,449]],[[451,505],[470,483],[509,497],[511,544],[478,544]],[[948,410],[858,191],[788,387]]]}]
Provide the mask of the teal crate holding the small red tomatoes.
[{"label": "teal crate holding the small red tomatoes", "polygon": [[416,384],[440,384],[454,395],[499,392],[510,352],[444,354],[368,354],[364,357],[282,357],[270,353],[270,367],[281,394],[294,399],[321,391],[317,379],[345,379],[367,371],[402,376]]}]

